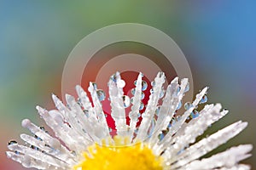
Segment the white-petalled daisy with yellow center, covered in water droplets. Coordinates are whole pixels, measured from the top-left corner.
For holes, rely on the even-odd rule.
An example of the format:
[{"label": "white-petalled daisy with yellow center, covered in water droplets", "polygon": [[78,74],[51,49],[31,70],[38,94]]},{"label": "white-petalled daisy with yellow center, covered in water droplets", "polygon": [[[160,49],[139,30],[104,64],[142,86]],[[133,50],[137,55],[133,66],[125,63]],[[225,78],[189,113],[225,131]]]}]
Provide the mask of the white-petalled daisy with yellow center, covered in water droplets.
[{"label": "white-petalled daisy with yellow center, covered in water droplets", "polygon": [[67,105],[64,105],[53,95],[57,110],[46,111],[37,106],[39,115],[54,131],[55,137],[49,135],[43,127],[25,119],[22,126],[28,128],[34,136],[21,134],[20,138],[26,142],[25,145],[11,141],[8,145],[11,151],[6,152],[7,156],[24,167],[38,169],[250,169],[239,161],[251,156],[248,153],[252,150],[251,144],[241,144],[202,158],[240,133],[247,127],[247,122],[235,122],[198,139],[207,127],[228,111],[221,110],[220,104],[205,105],[201,111],[196,111],[198,105],[207,101],[207,88],[203,88],[192,103],[185,103],[186,111],[178,116],[176,113],[182,105],[183,95],[189,90],[186,78],[180,82],[177,77],[174,78],[166,88],[165,97],[160,99],[166,80],[164,73],[158,73],[152,83],[143,119],[137,127],[146,84],[142,77],[140,73],[133,90],[129,123],[126,123],[125,116],[125,82],[119,72],[108,82],[115,134],[110,133],[102,110],[104,93],[90,82],[88,90],[92,103],[83,88],[77,86],[79,101],[67,94]]}]

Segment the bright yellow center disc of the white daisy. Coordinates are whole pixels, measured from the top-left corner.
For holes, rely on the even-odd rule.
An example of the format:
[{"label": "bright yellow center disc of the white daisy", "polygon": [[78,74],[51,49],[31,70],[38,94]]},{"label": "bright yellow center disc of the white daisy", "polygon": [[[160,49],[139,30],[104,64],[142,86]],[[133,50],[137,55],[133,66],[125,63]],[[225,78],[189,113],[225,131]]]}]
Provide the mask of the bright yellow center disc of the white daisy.
[{"label": "bright yellow center disc of the white daisy", "polygon": [[[84,152],[84,161],[74,170],[162,170],[160,156],[154,156],[147,144],[125,145],[120,137],[114,144],[104,146],[94,144]],[[102,141],[104,144],[105,142]]]}]

